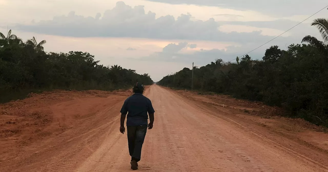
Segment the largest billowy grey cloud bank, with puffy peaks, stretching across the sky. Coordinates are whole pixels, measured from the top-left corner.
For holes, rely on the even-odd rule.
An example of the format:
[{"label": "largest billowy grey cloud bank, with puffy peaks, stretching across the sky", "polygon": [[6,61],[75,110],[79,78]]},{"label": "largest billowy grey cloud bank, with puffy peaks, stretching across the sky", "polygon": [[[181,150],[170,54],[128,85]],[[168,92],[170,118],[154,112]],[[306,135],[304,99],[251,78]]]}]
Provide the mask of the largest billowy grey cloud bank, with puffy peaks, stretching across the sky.
[{"label": "largest billowy grey cloud bank, with puffy peaks, stretching across the sky", "polygon": [[30,25],[16,25],[14,29],[42,34],[72,37],[132,37],[150,39],[207,40],[220,42],[265,42],[272,36],[263,36],[261,31],[248,33],[224,33],[213,18],[207,21],[192,20],[191,14],[181,14],[176,19],[171,15],[155,17],[145,13],[144,6],[132,8],[117,2],[112,10],[100,17],[84,17],[70,12],[67,16],[55,16]]}]

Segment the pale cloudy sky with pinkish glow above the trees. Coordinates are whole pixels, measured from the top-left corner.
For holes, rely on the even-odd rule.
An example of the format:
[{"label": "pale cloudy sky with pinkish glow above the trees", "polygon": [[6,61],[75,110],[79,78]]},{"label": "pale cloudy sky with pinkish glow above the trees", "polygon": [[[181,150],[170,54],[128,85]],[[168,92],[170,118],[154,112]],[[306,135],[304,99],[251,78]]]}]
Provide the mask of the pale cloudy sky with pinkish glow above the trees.
[{"label": "pale cloudy sky with pinkish glow above the trees", "polygon": [[[104,66],[148,73],[156,82],[216,59],[235,62],[328,5],[327,0],[0,0],[0,32],[7,27],[24,41],[46,40],[46,52],[83,51]],[[306,35],[319,39],[311,22],[249,53],[286,49]],[[6,35],[6,34],[5,34]]]}]

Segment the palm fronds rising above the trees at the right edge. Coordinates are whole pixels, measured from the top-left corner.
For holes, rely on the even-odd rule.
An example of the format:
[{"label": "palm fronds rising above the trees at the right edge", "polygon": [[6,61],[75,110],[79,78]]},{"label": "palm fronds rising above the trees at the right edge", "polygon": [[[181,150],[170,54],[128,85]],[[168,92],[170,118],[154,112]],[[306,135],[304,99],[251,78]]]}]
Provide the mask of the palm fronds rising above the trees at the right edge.
[{"label": "palm fronds rising above the trees at the right edge", "polygon": [[302,43],[306,42],[309,43],[311,46],[318,48],[320,52],[322,52],[325,56],[328,56],[328,19],[325,18],[318,18],[315,19],[311,26],[316,26],[321,33],[322,41],[319,41],[316,37],[313,36],[305,36],[302,39]]}]

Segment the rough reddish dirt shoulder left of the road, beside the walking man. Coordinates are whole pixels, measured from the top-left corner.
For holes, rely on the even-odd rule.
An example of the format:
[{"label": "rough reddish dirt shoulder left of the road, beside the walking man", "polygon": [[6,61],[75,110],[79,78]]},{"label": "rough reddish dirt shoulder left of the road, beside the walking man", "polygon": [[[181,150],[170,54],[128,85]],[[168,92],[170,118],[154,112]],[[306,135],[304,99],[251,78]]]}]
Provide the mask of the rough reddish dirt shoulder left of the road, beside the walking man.
[{"label": "rough reddish dirt shoulder left of the road, beside the walking man", "polygon": [[0,166],[22,163],[24,156],[63,142],[64,133],[82,131],[86,121],[101,123],[104,119],[95,114],[131,94],[131,90],[54,90],[0,105]]}]

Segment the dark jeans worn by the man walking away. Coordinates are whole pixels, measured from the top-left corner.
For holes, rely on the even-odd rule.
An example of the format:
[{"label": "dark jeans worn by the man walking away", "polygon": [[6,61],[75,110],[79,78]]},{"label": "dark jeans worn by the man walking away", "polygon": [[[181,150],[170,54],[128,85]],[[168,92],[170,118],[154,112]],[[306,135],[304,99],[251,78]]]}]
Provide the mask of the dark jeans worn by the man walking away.
[{"label": "dark jeans worn by the man walking away", "polygon": [[148,125],[128,126],[128,143],[131,161],[141,159],[141,148],[145,140]]}]

